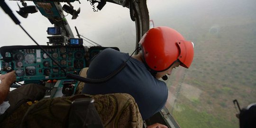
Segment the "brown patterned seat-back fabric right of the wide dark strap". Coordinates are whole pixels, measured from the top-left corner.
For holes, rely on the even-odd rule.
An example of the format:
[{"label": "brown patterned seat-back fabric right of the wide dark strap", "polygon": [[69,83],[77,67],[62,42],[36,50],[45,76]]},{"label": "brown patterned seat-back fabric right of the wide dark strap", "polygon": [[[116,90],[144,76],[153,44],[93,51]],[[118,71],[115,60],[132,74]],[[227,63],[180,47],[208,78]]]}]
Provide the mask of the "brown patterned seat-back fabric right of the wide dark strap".
[{"label": "brown patterned seat-back fabric right of the wide dark strap", "polygon": [[105,128],[142,128],[142,117],[133,97],[126,93],[91,96]]}]

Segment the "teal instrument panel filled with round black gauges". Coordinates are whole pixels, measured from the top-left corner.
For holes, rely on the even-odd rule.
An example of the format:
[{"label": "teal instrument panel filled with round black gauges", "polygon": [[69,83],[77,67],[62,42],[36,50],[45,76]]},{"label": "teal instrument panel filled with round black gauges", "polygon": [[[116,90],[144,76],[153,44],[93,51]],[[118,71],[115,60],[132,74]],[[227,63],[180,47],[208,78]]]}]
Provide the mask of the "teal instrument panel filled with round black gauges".
[{"label": "teal instrument panel filled with round black gauges", "polygon": [[[64,79],[66,73],[78,74],[86,66],[83,46],[42,46],[53,59],[39,46],[3,46],[0,47],[1,73],[16,71],[17,80],[38,81]],[[56,64],[57,63],[57,64]]]}]

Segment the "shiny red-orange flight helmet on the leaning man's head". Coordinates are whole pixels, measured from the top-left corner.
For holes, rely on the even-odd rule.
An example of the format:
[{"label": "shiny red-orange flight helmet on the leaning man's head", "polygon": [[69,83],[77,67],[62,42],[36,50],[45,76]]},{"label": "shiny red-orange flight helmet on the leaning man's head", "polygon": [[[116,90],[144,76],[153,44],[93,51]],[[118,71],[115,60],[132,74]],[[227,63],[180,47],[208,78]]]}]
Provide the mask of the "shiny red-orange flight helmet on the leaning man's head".
[{"label": "shiny red-orange flight helmet on the leaning man's head", "polygon": [[194,44],[170,27],[151,28],[141,38],[139,46],[144,62],[155,72],[163,72],[177,61],[189,68],[194,56]]}]

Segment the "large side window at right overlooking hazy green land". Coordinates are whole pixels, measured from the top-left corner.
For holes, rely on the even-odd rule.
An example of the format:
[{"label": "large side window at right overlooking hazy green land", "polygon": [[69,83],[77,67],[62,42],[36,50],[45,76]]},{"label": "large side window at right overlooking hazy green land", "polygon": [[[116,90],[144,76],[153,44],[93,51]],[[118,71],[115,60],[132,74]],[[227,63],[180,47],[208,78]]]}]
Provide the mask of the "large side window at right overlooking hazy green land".
[{"label": "large side window at right overlooking hazy green land", "polygon": [[233,100],[256,102],[255,0],[147,0],[155,26],[195,44],[189,69],[166,81],[166,107],[181,128],[239,128]]}]

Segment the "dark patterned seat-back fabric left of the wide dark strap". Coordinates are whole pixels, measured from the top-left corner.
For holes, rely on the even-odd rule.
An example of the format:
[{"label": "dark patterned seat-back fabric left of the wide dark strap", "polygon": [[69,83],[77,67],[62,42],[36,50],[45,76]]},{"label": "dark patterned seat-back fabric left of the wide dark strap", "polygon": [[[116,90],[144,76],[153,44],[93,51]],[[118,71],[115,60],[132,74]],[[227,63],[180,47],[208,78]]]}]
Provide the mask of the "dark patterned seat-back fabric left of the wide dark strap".
[{"label": "dark patterned seat-back fabric left of the wide dark strap", "polygon": [[66,128],[70,97],[43,99],[33,104],[22,119],[21,128]]}]

